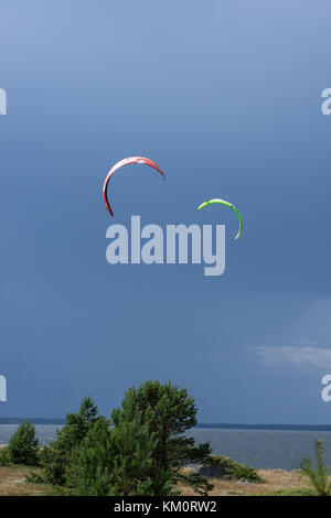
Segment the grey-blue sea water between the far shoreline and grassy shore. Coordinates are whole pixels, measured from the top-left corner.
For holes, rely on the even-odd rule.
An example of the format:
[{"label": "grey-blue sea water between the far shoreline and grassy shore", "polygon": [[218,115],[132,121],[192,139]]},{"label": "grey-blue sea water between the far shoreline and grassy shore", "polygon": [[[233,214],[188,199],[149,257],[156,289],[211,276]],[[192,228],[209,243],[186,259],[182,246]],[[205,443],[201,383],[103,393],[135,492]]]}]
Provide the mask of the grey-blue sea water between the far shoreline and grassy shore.
[{"label": "grey-blue sea water between the far shoreline and grassy shore", "polygon": [[[56,439],[60,424],[35,424],[41,444]],[[0,424],[0,444],[8,444],[18,424]],[[197,444],[210,442],[213,453],[257,468],[296,470],[305,456],[314,457],[314,440],[324,444],[325,464],[331,466],[331,431],[241,430],[194,428],[186,432]]]}]

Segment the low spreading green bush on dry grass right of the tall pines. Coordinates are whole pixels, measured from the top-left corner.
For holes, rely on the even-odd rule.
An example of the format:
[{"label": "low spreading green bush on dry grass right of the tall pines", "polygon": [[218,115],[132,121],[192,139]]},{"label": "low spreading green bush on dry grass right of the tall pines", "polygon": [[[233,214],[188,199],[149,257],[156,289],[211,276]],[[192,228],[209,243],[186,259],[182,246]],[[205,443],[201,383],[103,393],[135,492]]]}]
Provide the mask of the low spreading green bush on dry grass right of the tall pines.
[{"label": "low spreading green bush on dry grass right of the tall pines", "polygon": [[243,478],[256,484],[264,482],[256,470],[247,466],[247,464],[238,464],[224,455],[210,455],[210,457],[204,462],[204,466],[216,468],[217,476],[224,478],[237,481]]}]

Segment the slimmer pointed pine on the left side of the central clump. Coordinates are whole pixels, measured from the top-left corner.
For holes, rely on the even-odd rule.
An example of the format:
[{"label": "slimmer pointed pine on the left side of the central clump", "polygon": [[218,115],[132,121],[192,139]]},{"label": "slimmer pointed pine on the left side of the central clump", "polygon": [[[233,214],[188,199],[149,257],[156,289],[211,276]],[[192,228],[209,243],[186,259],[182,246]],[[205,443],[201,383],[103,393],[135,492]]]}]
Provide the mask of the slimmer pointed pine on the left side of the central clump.
[{"label": "slimmer pointed pine on the left side of the central clump", "polygon": [[45,446],[40,455],[44,467],[44,482],[53,485],[65,485],[66,468],[76,454],[82,441],[86,438],[98,418],[98,410],[88,397],[83,399],[78,413],[68,413],[56,441]]}]

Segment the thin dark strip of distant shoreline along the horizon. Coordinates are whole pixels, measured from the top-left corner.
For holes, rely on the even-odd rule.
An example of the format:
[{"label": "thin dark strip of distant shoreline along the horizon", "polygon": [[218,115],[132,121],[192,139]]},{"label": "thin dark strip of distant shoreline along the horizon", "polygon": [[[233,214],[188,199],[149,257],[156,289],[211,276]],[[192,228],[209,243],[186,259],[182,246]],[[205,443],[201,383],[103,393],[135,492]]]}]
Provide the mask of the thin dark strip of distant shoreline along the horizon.
[{"label": "thin dark strip of distant shoreline along the horizon", "polygon": [[[63,425],[65,419],[45,418],[0,418],[0,424],[21,424],[31,421],[33,424]],[[308,431],[331,432],[331,424],[239,424],[239,423],[197,423],[195,429],[215,430],[284,430],[284,431]]]}]

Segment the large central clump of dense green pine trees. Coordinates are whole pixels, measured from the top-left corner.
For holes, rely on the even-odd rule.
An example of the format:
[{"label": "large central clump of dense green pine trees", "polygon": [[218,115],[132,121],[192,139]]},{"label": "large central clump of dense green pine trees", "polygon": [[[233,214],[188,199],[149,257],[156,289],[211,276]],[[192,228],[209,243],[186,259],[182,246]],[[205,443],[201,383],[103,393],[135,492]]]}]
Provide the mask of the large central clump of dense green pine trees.
[{"label": "large central clump of dense green pine trees", "polygon": [[111,421],[97,416],[90,398],[66,417],[57,439],[40,454],[44,481],[75,495],[168,496],[178,482],[206,495],[200,475],[181,467],[201,463],[210,444],[195,445],[184,432],[196,424],[194,400],[185,389],[148,381],[131,388]]}]

